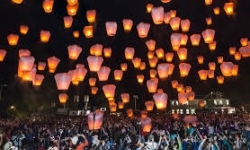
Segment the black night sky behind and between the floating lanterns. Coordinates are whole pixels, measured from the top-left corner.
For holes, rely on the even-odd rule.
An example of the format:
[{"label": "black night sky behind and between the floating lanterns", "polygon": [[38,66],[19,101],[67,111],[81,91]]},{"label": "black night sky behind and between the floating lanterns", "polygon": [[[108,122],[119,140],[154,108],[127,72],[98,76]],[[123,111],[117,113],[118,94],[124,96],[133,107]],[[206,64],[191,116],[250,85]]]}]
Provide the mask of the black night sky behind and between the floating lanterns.
[{"label": "black night sky behind and between the floating lanterns", "polygon": [[[190,75],[186,78],[179,77],[178,64],[180,63],[177,54],[174,56],[175,71],[174,74],[164,81],[160,81],[159,88],[163,88],[164,92],[169,95],[170,99],[177,98],[177,93],[171,89],[170,81],[178,80],[185,86],[193,87],[193,90],[200,97],[205,96],[210,91],[220,91],[223,97],[230,98],[232,103],[249,103],[250,97],[249,83],[250,83],[250,60],[244,58],[241,61],[235,61],[233,56],[228,53],[230,46],[240,47],[240,38],[250,35],[250,2],[249,0],[234,0],[237,5],[235,8],[235,16],[228,17],[223,11],[223,4],[226,0],[214,0],[211,6],[205,6],[203,0],[172,0],[169,4],[163,4],[159,0],[79,0],[78,14],[74,16],[73,26],[70,29],[64,29],[63,17],[67,15],[66,0],[55,0],[54,9],[51,14],[46,14],[42,8],[42,0],[24,0],[23,4],[15,5],[10,0],[0,1],[0,48],[6,49],[7,56],[4,62],[0,63],[0,79],[8,87],[3,89],[4,100],[8,97],[14,97],[17,100],[24,100],[26,97],[24,93],[32,95],[39,95],[39,99],[57,100],[56,85],[54,81],[54,74],[49,74],[46,69],[44,72],[38,72],[45,75],[45,80],[40,89],[34,89],[29,83],[23,83],[16,77],[18,64],[18,50],[20,48],[27,48],[38,61],[46,61],[49,56],[57,56],[61,59],[57,72],[68,71],[75,68],[76,63],[84,63],[87,66],[86,58],[89,55],[89,47],[93,44],[103,44],[104,47],[112,47],[112,58],[105,59],[104,65],[108,65],[112,70],[119,69],[122,62],[126,62],[124,57],[124,49],[127,46],[133,46],[136,49],[135,56],[140,57],[147,62],[147,48],[145,41],[148,39],[155,39],[156,47],[162,47],[165,52],[172,51],[170,45],[170,35],[173,32],[169,25],[154,25],[151,15],[146,13],[146,4],[153,3],[155,6],[163,6],[165,12],[175,9],[177,16],[182,19],[190,19],[191,28],[188,35],[194,33],[201,33],[206,28],[216,30],[215,40],[217,41],[217,49],[214,52],[208,50],[208,46],[201,39],[199,47],[192,47],[190,42],[187,44],[188,59],[186,62],[192,64]],[[221,14],[215,16],[213,8],[220,7]],[[95,23],[94,38],[86,39],[82,35],[82,29],[88,25],[86,20],[86,10],[97,10],[97,22]],[[213,18],[213,24],[207,26],[205,22],[206,17]],[[124,33],[122,28],[122,19],[131,18],[134,21],[133,29],[130,33]],[[118,24],[117,34],[114,37],[106,36],[105,22],[116,21]],[[136,25],[140,22],[148,22],[151,24],[150,32],[147,38],[141,39],[137,36]],[[7,42],[7,35],[10,33],[19,34],[19,26],[26,24],[29,26],[27,35],[20,35],[18,46],[9,46]],[[49,30],[51,32],[51,39],[48,43],[41,43],[39,41],[40,30]],[[74,30],[80,31],[80,38],[72,37]],[[83,51],[77,61],[70,61],[68,59],[67,46],[70,44],[78,44],[83,48]],[[197,64],[196,56],[204,55],[205,63],[203,65]],[[197,71],[200,69],[207,69],[209,61],[216,61],[217,56],[224,56],[225,61],[232,61],[238,64],[239,75],[237,77],[229,77],[225,79],[225,84],[218,85],[216,79],[209,79],[207,81],[200,81]],[[138,85],[136,75],[143,73],[148,76],[148,63],[145,71],[138,71],[133,69],[132,63],[128,62],[129,71],[125,72],[123,81],[113,81],[113,73],[111,72],[110,80],[104,83],[98,83],[99,92],[102,85],[106,83],[115,83],[117,85],[117,97],[122,92],[129,92],[131,94],[138,94],[142,101],[152,99],[152,95],[147,93],[146,84]],[[215,71],[215,75],[221,75],[219,65]],[[95,73],[88,73],[87,78],[97,77]],[[89,92],[86,80],[78,87],[70,86],[68,93],[71,97],[79,94],[80,98]],[[145,81],[147,78],[145,79]],[[22,95],[22,96],[19,96]],[[20,100],[20,101],[21,101]]]}]

